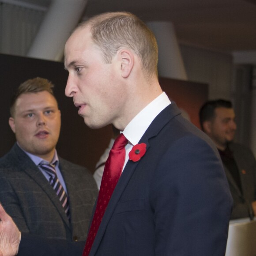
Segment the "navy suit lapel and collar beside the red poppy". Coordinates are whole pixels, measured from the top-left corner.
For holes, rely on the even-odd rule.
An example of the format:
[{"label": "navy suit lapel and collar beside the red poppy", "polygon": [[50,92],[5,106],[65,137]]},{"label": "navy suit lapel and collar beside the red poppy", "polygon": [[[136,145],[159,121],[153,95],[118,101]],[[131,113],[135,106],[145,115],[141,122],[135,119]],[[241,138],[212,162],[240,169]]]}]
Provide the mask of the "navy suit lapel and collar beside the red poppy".
[{"label": "navy suit lapel and collar beside the red poppy", "polygon": [[[160,130],[169,122],[169,120],[171,120],[174,116],[180,113],[180,110],[177,108],[177,105],[174,102],[171,105],[167,106],[164,110],[162,110],[161,113],[158,114],[157,117],[155,117],[149,128],[147,128],[147,131],[140,139],[139,143],[146,143],[148,150],[150,148],[150,139],[154,136],[157,136]],[[147,151],[143,157],[147,157]],[[132,162],[128,160],[124,168],[124,171],[117,183],[117,186],[114,189],[114,192],[111,196],[105,214],[102,218],[102,222],[95,237],[94,244],[90,250],[90,255],[94,255],[96,253],[98,246],[100,245],[100,242],[102,240],[102,237],[105,233],[105,229],[108,226],[109,220],[113,215],[113,212],[117,206],[117,203],[122,193],[124,192],[124,189],[126,188],[128,182],[130,181],[132,174],[135,171],[139,171],[139,169],[136,169],[136,167],[139,165],[139,162],[140,161]]]}]

